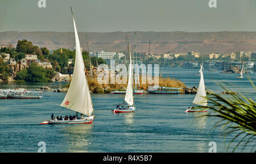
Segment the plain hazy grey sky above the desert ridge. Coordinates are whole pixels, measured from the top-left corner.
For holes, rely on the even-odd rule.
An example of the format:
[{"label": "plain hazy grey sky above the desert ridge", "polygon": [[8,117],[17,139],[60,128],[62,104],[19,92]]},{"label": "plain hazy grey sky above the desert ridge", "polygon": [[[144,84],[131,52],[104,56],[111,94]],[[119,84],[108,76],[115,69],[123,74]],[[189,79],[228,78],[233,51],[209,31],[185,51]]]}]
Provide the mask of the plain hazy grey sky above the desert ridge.
[{"label": "plain hazy grey sky above the desert ridge", "polygon": [[0,0],[0,32],[256,31],[256,0]]}]

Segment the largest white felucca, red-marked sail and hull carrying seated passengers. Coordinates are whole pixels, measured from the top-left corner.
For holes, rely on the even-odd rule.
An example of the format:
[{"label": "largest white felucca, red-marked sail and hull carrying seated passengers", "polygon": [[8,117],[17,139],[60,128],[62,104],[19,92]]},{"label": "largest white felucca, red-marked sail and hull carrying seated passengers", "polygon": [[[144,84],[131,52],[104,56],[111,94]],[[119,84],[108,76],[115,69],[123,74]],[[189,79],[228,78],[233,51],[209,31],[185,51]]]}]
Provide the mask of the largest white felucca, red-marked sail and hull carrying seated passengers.
[{"label": "largest white felucca, red-marked sail and hull carrying seated passengers", "polygon": [[[89,124],[94,120],[94,115],[92,116],[94,111],[92,98],[90,97],[88,82],[84,71],[84,60],[82,58],[80,41],[76,30],[76,23],[73,12],[72,17],[76,38],[76,60],[72,81],[70,83],[68,92],[60,106],[68,108],[69,110],[80,112],[82,115],[78,118],[75,117],[73,120],[56,120],[52,118],[51,120],[43,121],[43,123],[40,124]],[[86,117],[83,115],[86,115]]]}]

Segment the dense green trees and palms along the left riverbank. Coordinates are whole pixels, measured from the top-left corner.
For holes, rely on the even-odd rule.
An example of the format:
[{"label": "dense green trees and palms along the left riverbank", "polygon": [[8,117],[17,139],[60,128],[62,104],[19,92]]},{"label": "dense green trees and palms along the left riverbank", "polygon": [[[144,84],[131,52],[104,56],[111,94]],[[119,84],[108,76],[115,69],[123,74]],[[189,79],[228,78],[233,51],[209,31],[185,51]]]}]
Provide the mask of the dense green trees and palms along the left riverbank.
[{"label": "dense green trees and palms along the left riverbank", "polygon": [[[7,47],[2,47],[0,53],[0,81],[8,81],[10,77],[12,81],[49,82],[49,78],[52,77],[52,70],[40,69],[31,64],[51,62],[53,72],[72,74],[76,51],[59,48],[50,52],[46,47],[39,48],[38,46],[33,45],[31,41],[23,39],[18,41],[16,47],[13,47],[12,44],[9,44]],[[16,64],[10,64],[10,60],[5,60],[5,54],[10,54],[10,60],[14,60]],[[26,58],[26,54],[36,54],[38,60],[27,61],[27,64],[23,65],[22,60]],[[90,70],[89,60],[91,60],[92,66],[94,67],[106,63],[102,58],[89,58],[89,53],[87,51],[83,51],[82,56],[87,70]],[[29,69],[30,66],[32,66],[31,69]],[[39,71],[41,71],[43,75],[39,75]]]}]

